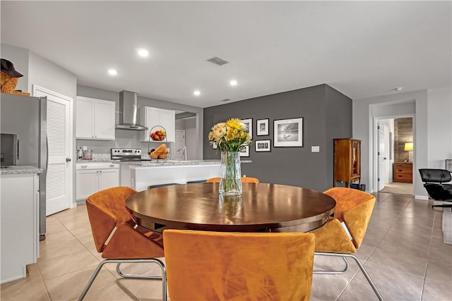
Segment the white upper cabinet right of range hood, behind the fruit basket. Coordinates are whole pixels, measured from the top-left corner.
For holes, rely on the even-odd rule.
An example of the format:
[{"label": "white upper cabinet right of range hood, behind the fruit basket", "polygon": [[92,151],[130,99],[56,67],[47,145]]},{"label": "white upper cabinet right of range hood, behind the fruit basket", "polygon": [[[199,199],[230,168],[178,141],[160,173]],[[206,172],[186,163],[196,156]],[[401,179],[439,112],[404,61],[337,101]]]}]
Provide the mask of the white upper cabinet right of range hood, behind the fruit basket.
[{"label": "white upper cabinet right of range hood, behind the fruit basket", "polygon": [[[143,106],[140,109],[140,121],[141,124],[148,128],[141,136],[141,141],[149,141],[150,130],[153,132],[158,128],[154,126],[160,126],[167,132],[167,142],[174,142],[176,137],[176,112],[166,109],[158,109],[150,106]],[[165,140],[163,141],[165,142]]]}]

